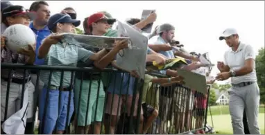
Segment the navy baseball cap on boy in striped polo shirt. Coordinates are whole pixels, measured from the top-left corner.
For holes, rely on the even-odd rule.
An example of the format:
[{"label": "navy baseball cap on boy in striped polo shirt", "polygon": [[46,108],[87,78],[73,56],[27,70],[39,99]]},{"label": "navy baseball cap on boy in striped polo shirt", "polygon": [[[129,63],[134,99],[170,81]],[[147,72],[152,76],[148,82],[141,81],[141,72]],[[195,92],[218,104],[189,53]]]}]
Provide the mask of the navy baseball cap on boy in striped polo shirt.
[{"label": "navy baseball cap on boy in striped polo shirt", "polygon": [[79,26],[81,21],[76,19],[71,19],[70,15],[63,14],[63,13],[57,13],[50,17],[48,21],[48,28],[50,30],[53,30],[55,28],[57,23],[71,23],[74,26]]}]

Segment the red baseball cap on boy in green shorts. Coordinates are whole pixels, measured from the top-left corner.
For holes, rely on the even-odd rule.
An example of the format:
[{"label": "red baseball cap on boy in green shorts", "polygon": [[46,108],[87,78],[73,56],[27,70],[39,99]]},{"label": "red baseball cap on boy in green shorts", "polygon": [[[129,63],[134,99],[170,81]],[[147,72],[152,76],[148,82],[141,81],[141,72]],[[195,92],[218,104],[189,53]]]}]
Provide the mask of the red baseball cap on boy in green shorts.
[{"label": "red baseball cap on boy in green shorts", "polygon": [[87,25],[91,26],[92,23],[96,23],[96,22],[101,21],[103,19],[105,19],[108,22],[108,24],[113,24],[116,21],[116,19],[110,19],[110,18],[106,17],[103,12],[98,12],[98,13],[95,13],[95,14],[90,15],[88,17]]}]

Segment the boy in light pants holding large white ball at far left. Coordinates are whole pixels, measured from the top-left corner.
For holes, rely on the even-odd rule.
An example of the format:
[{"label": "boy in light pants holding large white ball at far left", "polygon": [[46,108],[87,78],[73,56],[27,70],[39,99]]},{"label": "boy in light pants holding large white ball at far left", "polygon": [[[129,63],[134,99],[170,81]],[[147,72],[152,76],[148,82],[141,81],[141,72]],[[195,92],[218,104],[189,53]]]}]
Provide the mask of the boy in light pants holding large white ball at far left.
[{"label": "boy in light pants holding large white ball at far left", "polygon": [[[2,21],[7,27],[15,24],[23,24],[28,26],[31,19],[35,18],[35,13],[28,12],[23,6],[8,6],[2,11]],[[2,34],[2,33],[1,33]],[[3,48],[2,48],[3,46]],[[21,48],[17,53],[10,51],[5,46],[5,37],[1,36],[1,62],[7,63],[22,63],[22,64],[33,64],[35,61],[35,44],[28,45],[28,50]],[[19,110],[19,106],[23,100],[22,97],[22,85],[24,83],[24,70],[12,70],[11,71],[11,83],[9,97],[6,97],[7,84],[8,84],[8,70],[1,70],[1,122],[5,113],[7,113],[7,118],[12,114],[15,114]],[[25,77],[25,90],[28,90],[28,112],[27,112],[27,122],[33,127],[33,93],[35,87],[31,82],[31,73],[26,71]],[[19,92],[18,92],[19,91]],[[6,101],[6,98],[9,98]],[[8,112],[5,112],[6,102],[8,102]],[[27,123],[27,125],[28,125]],[[26,132],[27,133],[27,132]],[[30,133],[29,133],[30,134]]]}]

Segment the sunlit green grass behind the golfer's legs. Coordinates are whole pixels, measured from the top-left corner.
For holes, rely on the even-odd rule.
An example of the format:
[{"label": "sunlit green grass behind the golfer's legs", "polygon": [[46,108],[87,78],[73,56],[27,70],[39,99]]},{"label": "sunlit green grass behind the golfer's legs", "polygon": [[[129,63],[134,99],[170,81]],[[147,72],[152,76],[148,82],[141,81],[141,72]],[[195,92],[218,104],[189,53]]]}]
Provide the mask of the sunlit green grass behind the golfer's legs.
[{"label": "sunlit green grass behind the golfer's legs", "polygon": [[[265,134],[265,113],[264,113],[264,105],[259,107],[259,129],[261,134]],[[212,120],[210,117],[210,113],[208,113],[207,122],[209,125],[214,126],[214,130],[216,134],[232,134],[232,123],[231,123],[231,116],[229,114],[228,106],[214,106],[211,107],[212,111],[212,119],[214,124],[212,124]]]}]

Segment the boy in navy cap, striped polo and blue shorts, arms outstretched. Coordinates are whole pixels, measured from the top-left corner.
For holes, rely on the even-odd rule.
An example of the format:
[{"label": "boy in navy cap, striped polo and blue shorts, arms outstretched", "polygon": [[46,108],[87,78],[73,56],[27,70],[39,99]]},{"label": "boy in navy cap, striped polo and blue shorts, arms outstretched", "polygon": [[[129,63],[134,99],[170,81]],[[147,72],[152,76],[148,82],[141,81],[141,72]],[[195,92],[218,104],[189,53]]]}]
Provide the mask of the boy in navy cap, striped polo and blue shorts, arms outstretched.
[{"label": "boy in navy cap, striped polo and blue shorts, arms outstretched", "polygon": [[[74,26],[78,26],[80,21],[71,19],[66,14],[55,14],[49,19],[48,27],[54,33],[71,33]],[[92,53],[91,51],[85,50],[78,46],[74,40],[67,40],[65,43],[60,43],[62,35],[51,35],[44,39],[44,42],[40,46],[38,57],[44,58],[44,64],[51,66],[76,66],[78,61],[90,63],[94,61],[94,66],[99,69],[105,68],[105,66],[112,60],[112,57],[116,55],[121,48],[127,46],[124,41],[118,42],[117,46],[113,48],[109,53],[106,49],[99,51],[99,53]],[[108,53],[107,55],[105,55]],[[105,55],[105,56],[104,56]],[[72,91],[73,87],[70,83],[71,72],[65,72],[63,86],[60,86],[60,72],[53,72],[51,77],[51,85],[49,83],[49,71],[42,71],[40,78],[44,81],[44,89],[42,89],[42,97],[40,98],[40,126],[44,126],[43,134],[51,134],[55,124],[58,124],[57,134],[62,134],[65,130],[65,123],[67,118],[67,106],[69,91]],[[59,89],[60,87],[60,89]],[[52,91],[53,90],[53,91]],[[60,96],[60,108],[58,108],[59,102],[59,91]],[[49,92],[50,99],[45,102],[46,92]],[[70,112],[69,118],[74,111],[74,93],[71,94]],[[56,102],[56,103],[55,103]],[[46,107],[46,116],[43,120],[43,114]],[[58,116],[58,111],[60,116]],[[69,123],[69,122],[67,122]],[[44,125],[42,125],[44,124]]]}]

